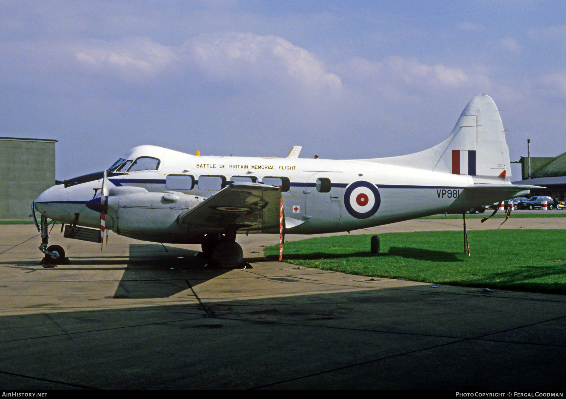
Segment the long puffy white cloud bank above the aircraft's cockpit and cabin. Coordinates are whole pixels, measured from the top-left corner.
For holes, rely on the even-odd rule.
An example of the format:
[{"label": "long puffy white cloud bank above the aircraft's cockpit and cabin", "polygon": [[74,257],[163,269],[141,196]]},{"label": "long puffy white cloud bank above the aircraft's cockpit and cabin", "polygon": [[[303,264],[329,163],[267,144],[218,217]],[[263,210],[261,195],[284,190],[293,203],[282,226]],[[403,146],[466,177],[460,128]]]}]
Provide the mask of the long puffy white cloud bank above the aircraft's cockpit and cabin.
[{"label": "long puffy white cloud bank above the aircraft's cockpit and cabin", "polygon": [[277,84],[303,94],[337,94],[340,77],[323,62],[284,38],[253,33],[202,34],[182,46],[164,46],[148,37],[107,42],[89,40],[75,49],[80,65],[131,83],[177,80],[179,74],[242,86]]}]

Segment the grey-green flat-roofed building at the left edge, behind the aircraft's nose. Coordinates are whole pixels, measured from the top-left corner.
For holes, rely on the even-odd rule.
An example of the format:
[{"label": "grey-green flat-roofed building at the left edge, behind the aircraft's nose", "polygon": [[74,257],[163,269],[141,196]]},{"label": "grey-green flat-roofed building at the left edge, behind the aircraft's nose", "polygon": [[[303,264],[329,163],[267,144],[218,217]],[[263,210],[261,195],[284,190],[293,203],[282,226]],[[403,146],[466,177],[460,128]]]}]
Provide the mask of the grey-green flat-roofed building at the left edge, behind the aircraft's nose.
[{"label": "grey-green flat-roofed building at the left edge, behind the aircraft's nose", "polygon": [[55,141],[0,137],[0,219],[28,219],[55,184]]}]

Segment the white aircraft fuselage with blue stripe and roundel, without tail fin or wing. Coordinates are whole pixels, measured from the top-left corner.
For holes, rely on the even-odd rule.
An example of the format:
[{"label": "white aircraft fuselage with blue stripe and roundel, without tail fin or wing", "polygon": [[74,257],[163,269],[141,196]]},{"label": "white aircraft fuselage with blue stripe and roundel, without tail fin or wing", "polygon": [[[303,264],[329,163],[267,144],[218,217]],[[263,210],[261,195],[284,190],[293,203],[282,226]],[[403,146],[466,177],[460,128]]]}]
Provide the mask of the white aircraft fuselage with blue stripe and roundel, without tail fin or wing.
[{"label": "white aircraft fuselage with blue stripe and roundel, without tail fin or wing", "polygon": [[[506,195],[501,193],[476,198],[465,192],[465,187],[474,183],[490,183],[490,177],[481,181],[478,176],[360,160],[206,157],[153,146],[141,146],[125,155],[125,159],[138,157],[158,159],[157,170],[110,173],[109,187],[140,187],[149,193],[175,192],[208,198],[234,181],[280,186],[286,232],[295,234],[350,231],[440,212],[461,213],[481,203],[507,199],[501,198]],[[78,181],[81,179],[67,180],[67,187],[62,183],[46,190],[37,198],[36,208],[64,223],[74,223],[79,214],[78,225],[97,228],[100,214],[88,209],[85,203],[100,196],[102,179]],[[157,200],[145,206],[136,205],[145,209],[139,211],[147,217],[143,231],[139,232],[121,231],[114,220],[106,223],[118,234],[133,238],[192,242],[211,229],[175,223],[177,215],[186,210],[185,205],[190,207],[182,201],[161,204]],[[152,212],[158,215],[157,219],[152,220]]]}]

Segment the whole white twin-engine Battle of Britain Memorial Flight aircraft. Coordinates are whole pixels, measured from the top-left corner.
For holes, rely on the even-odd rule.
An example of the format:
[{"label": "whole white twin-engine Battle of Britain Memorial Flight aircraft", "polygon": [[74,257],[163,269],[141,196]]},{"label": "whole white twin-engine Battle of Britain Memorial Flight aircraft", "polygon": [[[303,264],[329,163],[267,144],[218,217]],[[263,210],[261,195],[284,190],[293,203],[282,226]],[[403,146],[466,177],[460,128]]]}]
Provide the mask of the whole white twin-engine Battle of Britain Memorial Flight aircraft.
[{"label": "whole white twin-engine Battle of Britain Memorial Flight aircraft", "polygon": [[446,140],[419,153],[336,161],[298,158],[300,150],[244,158],[131,149],[107,171],[65,180],[37,197],[44,262],[65,258],[61,246],[47,246],[47,218],[67,223],[66,237],[101,242],[102,216],[119,235],[201,244],[213,263],[232,267],[243,262],[237,234],[278,233],[281,225],[293,234],[341,232],[464,214],[535,188],[511,184],[503,124],[486,94],[471,99]]}]

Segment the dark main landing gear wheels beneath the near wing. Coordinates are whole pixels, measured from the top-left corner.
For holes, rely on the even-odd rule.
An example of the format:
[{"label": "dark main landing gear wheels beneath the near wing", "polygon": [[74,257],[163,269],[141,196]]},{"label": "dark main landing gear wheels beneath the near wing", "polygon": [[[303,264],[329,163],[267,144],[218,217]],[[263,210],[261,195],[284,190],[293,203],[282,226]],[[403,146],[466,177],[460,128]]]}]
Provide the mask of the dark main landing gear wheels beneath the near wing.
[{"label": "dark main landing gear wheels beneath the near wing", "polygon": [[211,258],[212,264],[221,268],[251,267],[244,262],[242,247],[236,242],[236,228],[230,226],[224,235],[208,234],[201,245],[203,256]]}]

